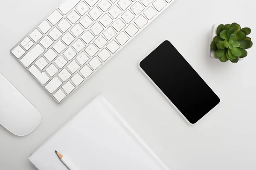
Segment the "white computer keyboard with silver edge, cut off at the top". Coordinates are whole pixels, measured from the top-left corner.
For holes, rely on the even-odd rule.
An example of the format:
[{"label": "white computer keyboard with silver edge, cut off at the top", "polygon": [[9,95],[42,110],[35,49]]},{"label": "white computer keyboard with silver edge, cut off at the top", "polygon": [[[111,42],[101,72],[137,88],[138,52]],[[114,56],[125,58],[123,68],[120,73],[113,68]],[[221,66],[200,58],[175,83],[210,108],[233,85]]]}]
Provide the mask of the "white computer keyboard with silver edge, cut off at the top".
[{"label": "white computer keyboard with silver edge, cut off at the top", "polygon": [[62,102],[174,0],[65,0],[11,54]]}]

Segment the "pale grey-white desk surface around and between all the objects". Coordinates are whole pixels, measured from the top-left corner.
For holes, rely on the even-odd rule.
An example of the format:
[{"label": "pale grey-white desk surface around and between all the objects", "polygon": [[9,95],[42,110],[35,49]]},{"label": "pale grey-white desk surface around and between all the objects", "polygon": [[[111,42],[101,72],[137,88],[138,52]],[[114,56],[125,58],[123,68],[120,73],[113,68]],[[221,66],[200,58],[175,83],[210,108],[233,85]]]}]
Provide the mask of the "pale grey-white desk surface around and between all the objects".
[{"label": "pale grey-white desk surface around and between all the objects", "polygon": [[[0,127],[0,170],[36,170],[28,157],[96,94],[103,94],[173,170],[256,169],[256,1],[176,0],[107,65],[61,105],[9,50],[61,0],[1,0],[0,72],[42,116],[30,135]],[[250,27],[255,41],[237,64],[208,56],[215,23]],[[188,125],[137,68],[137,62],[169,39],[221,99],[196,126]]]}]

